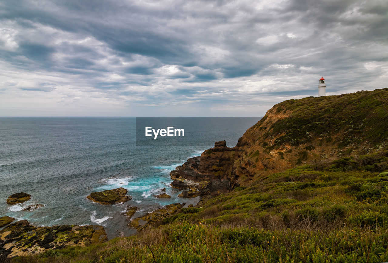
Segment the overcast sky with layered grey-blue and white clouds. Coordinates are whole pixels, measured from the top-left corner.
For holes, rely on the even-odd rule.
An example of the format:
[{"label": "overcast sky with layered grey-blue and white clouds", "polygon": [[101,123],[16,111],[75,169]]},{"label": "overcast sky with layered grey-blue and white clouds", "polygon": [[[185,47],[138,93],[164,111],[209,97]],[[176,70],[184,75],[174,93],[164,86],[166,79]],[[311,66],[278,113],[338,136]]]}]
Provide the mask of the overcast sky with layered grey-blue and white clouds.
[{"label": "overcast sky with layered grey-blue and white clouds", "polygon": [[262,117],[387,62],[386,0],[0,0],[0,116]]}]

